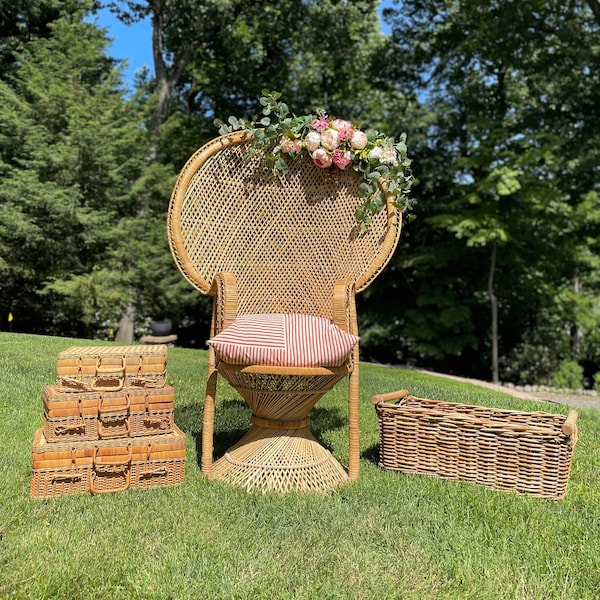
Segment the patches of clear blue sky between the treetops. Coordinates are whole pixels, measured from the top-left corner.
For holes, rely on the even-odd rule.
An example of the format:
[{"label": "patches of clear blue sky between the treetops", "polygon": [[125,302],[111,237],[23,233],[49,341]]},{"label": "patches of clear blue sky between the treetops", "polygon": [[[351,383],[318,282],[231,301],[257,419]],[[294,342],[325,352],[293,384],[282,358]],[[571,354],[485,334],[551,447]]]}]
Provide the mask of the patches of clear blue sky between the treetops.
[{"label": "patches of clear blue sky between the treetops", "polygon": [[[391,5],[391,0],[383,0],[382,7]],[[109,54],[113,58],[124,59],[127,67],[124,73],[125,82],[130,85],[138,69],[147,66],[153,74],[152,30],[150,18],[134,25],[123,25],[109,10],[98,13],[97,22],[100,27],[108,29],[108,37],[113,40]],[[386,31],[386,28],[383,29]]]}]

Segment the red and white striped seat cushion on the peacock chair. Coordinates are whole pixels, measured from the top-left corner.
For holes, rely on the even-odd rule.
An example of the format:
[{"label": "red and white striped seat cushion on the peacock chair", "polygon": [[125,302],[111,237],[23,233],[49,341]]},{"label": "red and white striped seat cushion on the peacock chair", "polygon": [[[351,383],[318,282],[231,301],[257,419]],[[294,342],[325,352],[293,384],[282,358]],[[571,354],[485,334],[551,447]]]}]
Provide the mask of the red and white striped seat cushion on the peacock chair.
[{"label": "red and white striped seat cushion on the peacock chair", "polygon": [[221,360],[235,365],[335,367],[358,339],[322,317],[259,314],[238,316],[208,344]]}]

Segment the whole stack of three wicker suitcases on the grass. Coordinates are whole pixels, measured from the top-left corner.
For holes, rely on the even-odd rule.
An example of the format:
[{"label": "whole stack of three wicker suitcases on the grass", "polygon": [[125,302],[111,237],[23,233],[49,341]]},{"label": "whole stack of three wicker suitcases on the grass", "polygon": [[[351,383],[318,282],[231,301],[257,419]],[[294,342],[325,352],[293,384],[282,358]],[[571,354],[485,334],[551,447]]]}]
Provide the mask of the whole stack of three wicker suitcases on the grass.
[{"label": "whole stack of three wicker suitcases on the grass", "polygon": [[30,494],[119,492],[183,481],[185,435],[166,383],[167,347],[74,346],[43,390]]}]

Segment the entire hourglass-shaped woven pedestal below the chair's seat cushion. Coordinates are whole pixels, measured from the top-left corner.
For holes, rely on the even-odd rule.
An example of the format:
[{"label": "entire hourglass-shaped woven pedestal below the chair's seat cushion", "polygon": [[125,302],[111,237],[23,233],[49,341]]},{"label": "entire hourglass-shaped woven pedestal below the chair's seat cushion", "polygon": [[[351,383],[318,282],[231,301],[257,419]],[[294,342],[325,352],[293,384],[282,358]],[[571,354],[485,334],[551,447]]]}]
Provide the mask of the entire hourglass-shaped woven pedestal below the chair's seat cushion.
[{"label": "entire hourglass-shaped woven pedestal below the chair's seat cushion", "polygon": [[212,465],[211,477],[261,492],[325,492],[347,482],[346,470],[308,428],[308,415],[348,369],[280,370],[219,366],[253,416],[246,435]]}]

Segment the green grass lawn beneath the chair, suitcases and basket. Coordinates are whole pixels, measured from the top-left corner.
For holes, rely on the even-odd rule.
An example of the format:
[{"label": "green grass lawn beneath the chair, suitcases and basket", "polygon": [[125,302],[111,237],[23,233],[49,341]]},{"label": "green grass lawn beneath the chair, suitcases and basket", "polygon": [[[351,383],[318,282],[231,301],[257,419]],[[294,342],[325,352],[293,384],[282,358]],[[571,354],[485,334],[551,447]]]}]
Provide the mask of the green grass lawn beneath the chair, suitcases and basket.
[{"label": "green grass lawn beneath the chair, suitcases and basket", "polygon": [[[248,494],[201,475],[207,355],[169,349],[175,421],[186,433],[180,486],[29,498],[41,391],[58,352],[81,342],[0,334],[0,598],[521,599],[600,598],[600,415],[582,410],[561,502],[382,471],[375,393],[565,413],[404,369],[361,366],[361,473],[325,495]],[[339,385],[312,427],[345,463]],[[216,448],[248,427],[226,384]]]}]

